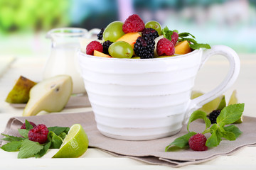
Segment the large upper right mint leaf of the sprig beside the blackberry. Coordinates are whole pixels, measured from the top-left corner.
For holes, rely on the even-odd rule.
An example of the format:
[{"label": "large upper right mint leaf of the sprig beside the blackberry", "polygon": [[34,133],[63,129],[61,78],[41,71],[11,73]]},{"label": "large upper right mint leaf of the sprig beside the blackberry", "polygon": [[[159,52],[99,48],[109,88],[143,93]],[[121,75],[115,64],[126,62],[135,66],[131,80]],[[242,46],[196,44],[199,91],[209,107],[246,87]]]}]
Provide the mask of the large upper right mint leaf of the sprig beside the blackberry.
[{"label": "large upper right mint leaf of the sprig beside the blackberry", "polygon": [[244,111],[244,107],[244,103],[238,103],[223,108],[223,110],[220,112],[220,115],[217,117],[217,124],[219,126],[224,126],[234,123],[241,117],[242,112]]}]

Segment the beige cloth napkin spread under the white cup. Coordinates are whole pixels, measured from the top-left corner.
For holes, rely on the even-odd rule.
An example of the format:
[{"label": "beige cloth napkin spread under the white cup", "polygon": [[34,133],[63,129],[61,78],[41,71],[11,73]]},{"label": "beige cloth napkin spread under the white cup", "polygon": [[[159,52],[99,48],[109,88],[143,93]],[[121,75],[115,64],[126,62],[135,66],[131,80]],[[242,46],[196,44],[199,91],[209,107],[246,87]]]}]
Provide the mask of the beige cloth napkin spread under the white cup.
[{"label": "beige cloth napkin spread under the white cup", "polygon": [[[169,143],[173,142],[176,137],[180,137],[186,133],[186,127],[183,127],[181,132],[178,132],[178,134],[172,137],[165,137],[159,140],[125,141],[105,137],[97,130],[92,112],[54,113],[33,117],[11,118],[6,125],[4,133],[18,135],[17,128],[19,128],[26,119],[33,121],[36,124],[43,123],[47,126],[58,125],[70,127],[75,123],[80,123],[88,135],[90,147],[102,149],[117,157],[129,157],[149,164],[173,167],[206,162],[215,157],[233,154],[242,147],[256,144],[256,118],[247,116],[244,117],[243,123],[238,124],[238,128],[240,128],[243,133],[237,140],[223,140],[218,147],[210,148],[208,151],[204,152],[195,152],[191,149],[180,149],[176,152],[164,152],[165,147],[169,145]],[[195,121],[191,123],[191,125],[192,124],[194,131],[202,131],[203,123],[201,121]]]}]

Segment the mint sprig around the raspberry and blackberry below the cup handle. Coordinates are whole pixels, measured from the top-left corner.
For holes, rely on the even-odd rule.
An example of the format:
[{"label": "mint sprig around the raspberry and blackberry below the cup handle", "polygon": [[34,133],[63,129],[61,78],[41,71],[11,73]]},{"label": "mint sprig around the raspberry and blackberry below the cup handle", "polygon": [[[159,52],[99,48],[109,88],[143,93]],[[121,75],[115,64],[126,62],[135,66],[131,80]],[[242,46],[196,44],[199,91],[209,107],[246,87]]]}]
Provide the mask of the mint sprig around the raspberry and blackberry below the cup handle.
[{"label": "mint sprig around the raspberry and blackberry below the cup handle", "polygon": [[[222,101],[224,103],[224,101]],[[221,102],[220,102],[221,103]],[[223,107],[223,103],[221,104]],[[207,114],[203,111],[194,111],[191,117],[188,120],[187,130],[188,133],[181,137],[176,138],[174,142],[171,142],[165,149],[166,152],[171,151],[171,147],[186,148],[188,147],[188,140],[192,135],[195,135],[196,132],[190,132],[190,124],[197,120],[203,119],[206,123],[206,129],[202,132],[203,134],[210,133],[210,137],[206,140],[207,147],[217,147],[220,145],[220,142],[225,138],[226,140],[236,140],[242,132],[235,125],[230,125],[235,123],[241,116],[244,111],[245,104],[238,103],[230,106],[225,106],[218,115],[216,123],[213,125],[210,124],[210,120],[207,117]]]}]

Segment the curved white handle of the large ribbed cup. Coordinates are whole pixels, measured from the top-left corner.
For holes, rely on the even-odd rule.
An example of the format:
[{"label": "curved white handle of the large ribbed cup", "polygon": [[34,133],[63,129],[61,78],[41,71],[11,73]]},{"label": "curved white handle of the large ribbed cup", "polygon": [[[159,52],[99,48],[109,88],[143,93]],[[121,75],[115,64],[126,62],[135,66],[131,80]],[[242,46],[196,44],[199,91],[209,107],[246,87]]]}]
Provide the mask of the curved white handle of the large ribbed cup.
[{"label": "curved white handle of the large ribbed cup", "polygon": [[238,57],[238,54],[232,48],[225,45],[214,45],[210,49],[204,50],[200,67],[202,67],[203,64],[208,60],[208,58],[213,55],[223,55],[228,59],[228,62],[230,64],[228,74],[215,89],[191,100],[183,121],[184,124],[188,123],[188,119],[193,111],[198,110],[198,108],[201,108],[204,104],[212,101],[214,98],[217,98],[218,96],[223,94],[225,91],[228,90],[228,88],[230,88],[230,86],[235,83],[235,80],[238,78],[238,74],[240,72],[240,59]]}]

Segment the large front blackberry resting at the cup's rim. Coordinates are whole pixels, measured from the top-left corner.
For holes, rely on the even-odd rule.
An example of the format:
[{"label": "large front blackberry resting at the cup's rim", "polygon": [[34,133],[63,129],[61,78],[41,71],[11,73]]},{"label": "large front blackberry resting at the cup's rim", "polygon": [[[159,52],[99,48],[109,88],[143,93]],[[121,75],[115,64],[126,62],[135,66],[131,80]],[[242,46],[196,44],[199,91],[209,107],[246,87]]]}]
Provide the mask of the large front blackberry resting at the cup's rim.
[{"label": "large front blackberry resting at the cup's rim", "polygon": [[142,59],[154,58],[154,39],[139,37],[134,44],[134,53]]}]

